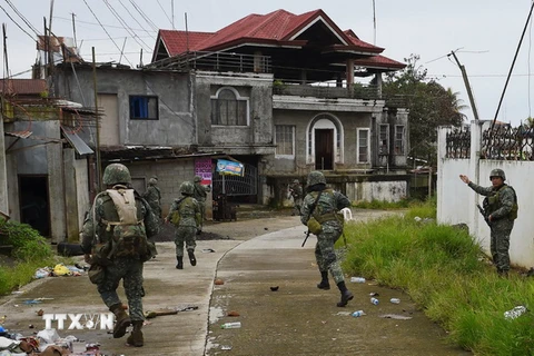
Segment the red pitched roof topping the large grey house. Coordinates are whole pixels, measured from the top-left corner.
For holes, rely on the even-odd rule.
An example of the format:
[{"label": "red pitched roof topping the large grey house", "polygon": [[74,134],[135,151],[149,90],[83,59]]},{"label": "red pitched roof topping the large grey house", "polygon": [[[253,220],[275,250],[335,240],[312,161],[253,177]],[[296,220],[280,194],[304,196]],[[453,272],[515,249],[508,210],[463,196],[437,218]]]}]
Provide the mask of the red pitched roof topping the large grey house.
[{"label": "red pitched roof topping the large grey house", "polygon": [[[287,43],[295,41],[295,36],[316,20],[323,20],[332,28],[344,44],[353,49],[367,50],[380,53],[384,49],[364,42],[352,30],[342,31],[323,10],[314,10],[303,14],[294,14],[286,10],[276,10],[267,14],[249,14],[217,32],[186,32],[176,30],[160,30],[157,48],[161,41],[169,57],[190,51],[221,50],[244,42],[253,43]],[[187,46],[188,42],[188,46]],[[156,56],[156,53],[155,53]]]}]

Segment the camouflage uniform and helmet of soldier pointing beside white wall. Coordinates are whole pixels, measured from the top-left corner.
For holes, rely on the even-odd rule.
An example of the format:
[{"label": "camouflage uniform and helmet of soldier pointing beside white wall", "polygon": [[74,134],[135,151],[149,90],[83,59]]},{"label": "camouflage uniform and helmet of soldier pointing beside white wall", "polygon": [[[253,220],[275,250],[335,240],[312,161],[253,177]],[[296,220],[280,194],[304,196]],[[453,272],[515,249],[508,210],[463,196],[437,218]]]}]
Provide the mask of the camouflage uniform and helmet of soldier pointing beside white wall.
[{"label": "camouflage uniform and helmet of soldier pointing beside white wall", "polygon": [[[492,174],[496,171],[493,170]],[[502,170],[501,170],[502,171]],[[497,172],[498,174],[498,172]],[[504,177],[504,172],[502,172]],[[492,176],[491,176],[492,177]],[[510,234],[514,228],[514,220],[510,219],[510,214],[517,204],[517,197],[512,187],[503,184],[500,187],[481,187],[472,181],[468,184],[469,188],[479,195],[495,196],[498,191],[498,197],[493,204],[490,204],[487,214],[492,217],[491,220],[491,241],[490,250],[493,263],[497,268],[498,274],[507,275],[510,270]]]}]

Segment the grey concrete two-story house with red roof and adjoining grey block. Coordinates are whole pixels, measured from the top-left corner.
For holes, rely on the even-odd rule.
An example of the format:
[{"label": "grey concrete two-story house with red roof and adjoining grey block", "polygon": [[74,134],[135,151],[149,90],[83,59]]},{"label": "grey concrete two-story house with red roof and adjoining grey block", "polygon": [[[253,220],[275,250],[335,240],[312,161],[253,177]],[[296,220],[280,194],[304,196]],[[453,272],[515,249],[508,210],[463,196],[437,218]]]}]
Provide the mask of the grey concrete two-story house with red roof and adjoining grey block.
[{"label": "grey concrete two-story house with red roof and adjoining grey block", "polygon": [[[407,111],[380,88],[404,65],[383,51],[322,10],[278,10],[217,32],[160,30],[142,68],[99,63],[93,81],[92,66],[69,63],[53,82],[103,109],[99,140],[80,135],[105,164],[130,167],[139,190],[158,176],[164,211],[199,171],[238,201],[281,201],[316,169],[353,200],[396,200],[407,195]],[[219,158],[245,176],[221,177]]]}]

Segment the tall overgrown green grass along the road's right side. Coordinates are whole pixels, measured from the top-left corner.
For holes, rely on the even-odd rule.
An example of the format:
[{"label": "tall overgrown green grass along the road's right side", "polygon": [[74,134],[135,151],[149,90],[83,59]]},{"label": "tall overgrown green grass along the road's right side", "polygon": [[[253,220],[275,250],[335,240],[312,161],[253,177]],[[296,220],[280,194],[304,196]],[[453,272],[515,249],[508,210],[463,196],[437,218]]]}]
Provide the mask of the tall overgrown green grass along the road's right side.
[{"label": "tall overgrown green grass along the road's right side", "polygon": [[348,224],[344,269],[405,290],[451,342],[476,355],[534,355],[532,316],[504,318],[517,305],[534,306],[534,285],[517,274],[500,278],[466,231],[415,216],[434,218],[434,204]]}]

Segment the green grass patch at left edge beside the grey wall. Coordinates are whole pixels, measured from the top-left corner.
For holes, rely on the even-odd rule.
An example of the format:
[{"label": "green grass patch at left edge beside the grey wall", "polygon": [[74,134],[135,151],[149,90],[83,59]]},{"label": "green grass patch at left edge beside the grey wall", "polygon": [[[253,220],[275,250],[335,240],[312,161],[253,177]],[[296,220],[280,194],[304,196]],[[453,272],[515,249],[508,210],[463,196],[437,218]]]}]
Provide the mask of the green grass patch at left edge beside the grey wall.
[{"label": "green grass patch at left edge beside the grey wall", "polygon": [[12,245],[13,265],[0,266],[0,295],[33,279],[37,268],[58,263],[48,241],[29,225],[0,219],[2,244]]}]

